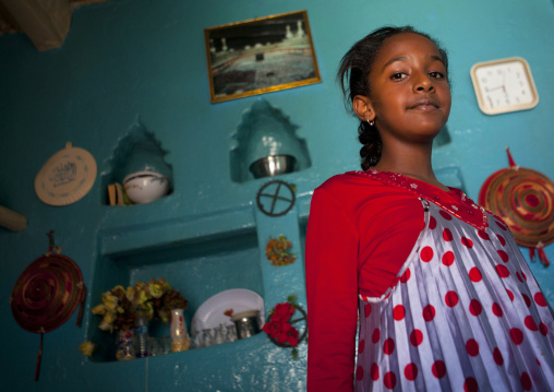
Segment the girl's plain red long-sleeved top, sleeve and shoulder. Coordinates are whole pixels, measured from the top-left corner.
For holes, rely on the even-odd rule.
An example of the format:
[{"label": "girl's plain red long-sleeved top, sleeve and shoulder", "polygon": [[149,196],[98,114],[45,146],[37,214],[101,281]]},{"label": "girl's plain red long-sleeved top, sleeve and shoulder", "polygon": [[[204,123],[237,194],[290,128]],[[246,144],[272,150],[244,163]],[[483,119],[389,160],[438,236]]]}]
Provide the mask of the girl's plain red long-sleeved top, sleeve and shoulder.
[{"label": "girl's plain red long-sleeved top, sleeve and shoulder", "polygon": [[[457,189],[406,179],[449,205],[466,200]],[[315,190],[305,245],[309,391],[353,389],[358,295],[378,297],[393,285],[423,226],[413,193],[363,174]]]}]

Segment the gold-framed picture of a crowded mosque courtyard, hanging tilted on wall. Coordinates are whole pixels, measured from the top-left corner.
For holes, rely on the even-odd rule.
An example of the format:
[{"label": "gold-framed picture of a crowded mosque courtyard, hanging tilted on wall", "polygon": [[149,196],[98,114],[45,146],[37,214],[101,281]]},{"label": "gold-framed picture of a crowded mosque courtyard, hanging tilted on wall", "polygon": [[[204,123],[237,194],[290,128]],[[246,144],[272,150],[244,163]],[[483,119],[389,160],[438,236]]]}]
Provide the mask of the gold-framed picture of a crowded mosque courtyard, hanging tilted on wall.
[{"label": "gold-framed picture of a crowded mosque courtyard, hanging tilted on wall", "polygon": [[305,11],[204,29],[212,103],[322,81]]}]

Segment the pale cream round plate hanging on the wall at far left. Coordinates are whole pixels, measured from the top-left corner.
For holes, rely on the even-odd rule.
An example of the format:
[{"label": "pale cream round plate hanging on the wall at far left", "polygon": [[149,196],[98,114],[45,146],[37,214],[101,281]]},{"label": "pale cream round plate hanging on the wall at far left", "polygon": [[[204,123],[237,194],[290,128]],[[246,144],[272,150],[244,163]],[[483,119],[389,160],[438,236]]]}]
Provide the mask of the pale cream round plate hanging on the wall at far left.
[{"label": "pale cream round plate hanging on the wall at far left", "polygon": [[53,154],[35,178],[38,198],[50,205],[68,205],[82,199],[96,180],[96,161],[89,152],[73,147]]}]

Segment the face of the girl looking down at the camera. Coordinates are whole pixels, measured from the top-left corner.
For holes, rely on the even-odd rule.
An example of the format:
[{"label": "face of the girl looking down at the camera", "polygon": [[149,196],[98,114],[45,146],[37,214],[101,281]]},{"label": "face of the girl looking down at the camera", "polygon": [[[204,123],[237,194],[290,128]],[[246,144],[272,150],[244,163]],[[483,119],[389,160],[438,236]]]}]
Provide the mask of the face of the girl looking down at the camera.
[{"label": "face of the girl looking down at the camera", "polygon": [[446,68],[433,41],[413,33],[387,38],[369,78],[369,119],[375,120],[384,142],[389,136],[430,142],[441,132],[451,97]]}]

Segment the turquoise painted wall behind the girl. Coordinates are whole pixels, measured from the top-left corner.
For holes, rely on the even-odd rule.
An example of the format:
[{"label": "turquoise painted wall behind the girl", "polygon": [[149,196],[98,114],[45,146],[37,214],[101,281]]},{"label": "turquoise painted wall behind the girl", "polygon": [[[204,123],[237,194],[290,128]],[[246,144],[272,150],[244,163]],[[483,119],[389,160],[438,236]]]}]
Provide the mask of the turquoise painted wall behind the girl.
[{"label": "turquoise painted wall behind the girl", "polygon": [[[260,96],[209,103],[203,28],[301,9],[308,10],[323,82],[262,97],[298,126],[312,166],[282,177],[297,186],[298,202],[289,214],[272,219],[255,207],[255,194],[266,181],[233,182],[229,167],[231,135]],[[332,175],[359,167],[357,124],[344,110],[335,72],[351,44],[383,24],[412,24],[449,50],[451,142],[435,151],[437,168],[459,168],[459,180],[477,199],[483,181],[508,166],[504,147],[509,146],[517,164],[554,178],[553,21],[550,0],[112,0],[76,9],[60,49],[38,52],[22,34],[0,37],[0,205],[28,217],[22,233],[0,228],[2,390],[304,389],[305,346],[300,360],[292,361],[264,334],[148,361],[91,361],[77,346],[95,331],[89,309],[112,284],[110,269],[122,270],[117,276],[132,282],[150,272],[150,264],[158,263],[155,272],[161,275],[179,262],[196,269],[205,258],[237,273],[237,265],[251,264],[237,264],[233,258],[257,257],[263,282],[252,289],[264,297],[266,311],[289,294],[304,304],[300,248],[311,191]],[[479,61],[513,56],[529,61],[540,103],[528,111],[485,116],[477,106],[469,70]],[[107,206],[101,176],[111,171],[118,141],[138,122],[169,151],[174,192],[147,205]],[[81,201],[49,206],[36,197],[34,179],[67,141],[95,156],[99,177]],[[74,314],[46,334],[35,383],[39,338],[17,325],[9,299],[23,270],[46,251],[49,229],[56,230],[62,253],[81,266],[89,290],[84,325],[74,325]],[[276,269],[264,260],[263,249],[270,235],[280,233],[293,239],[299,260]],[[554,248],[545,250],[554,261]],[[164,263],[156,254],[166,258]],[[217,264],[227,259],[229,264]],[[531,268],[554,302],[553,268]],[[171,283],[188,296],[188,287]],[[200,302],[217,293],[212,286],[196,284],[202,294],[189,297]]]}]

